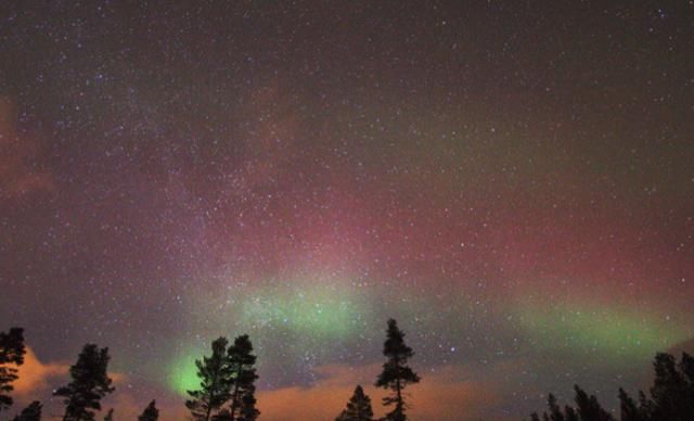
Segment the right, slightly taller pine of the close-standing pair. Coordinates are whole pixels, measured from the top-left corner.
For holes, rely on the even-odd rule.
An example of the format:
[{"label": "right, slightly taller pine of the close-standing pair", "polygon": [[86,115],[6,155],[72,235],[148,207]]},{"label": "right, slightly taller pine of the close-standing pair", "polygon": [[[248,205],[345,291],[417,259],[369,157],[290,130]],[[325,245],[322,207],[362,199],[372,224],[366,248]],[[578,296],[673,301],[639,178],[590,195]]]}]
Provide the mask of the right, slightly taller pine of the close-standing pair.
[{"label": "right, slightly taller pine of the close-standing pair", "polygon": [[233,382],[229,407],[231,420],[253,421],[260,414],[255,407],[254,396],[255,381],[258,379],[254,367],[256,358],[248,335],[236,337],[229,347],[228,360]]}]

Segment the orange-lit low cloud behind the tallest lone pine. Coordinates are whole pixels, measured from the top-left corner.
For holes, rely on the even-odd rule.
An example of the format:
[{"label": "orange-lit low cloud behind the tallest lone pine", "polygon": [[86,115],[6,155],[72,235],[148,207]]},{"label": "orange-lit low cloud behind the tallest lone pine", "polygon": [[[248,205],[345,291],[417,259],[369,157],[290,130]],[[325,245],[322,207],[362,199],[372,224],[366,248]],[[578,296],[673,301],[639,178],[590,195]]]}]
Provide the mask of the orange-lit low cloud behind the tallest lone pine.
[{"label": "orange-lit low cloud behind the tallest lone pine", "polygon": [[[372,385],[380,370],[380,365],[324,366],[316,370],[320,380],[311,387],[259,392],[258,408],[270,420],[334,419],[345,408],[356,385],[361,384],[371,397],[375,414],[381,416],[385,413],[381,405],[385,391]],[[463,380],[466,375],[463,368],[450,366],[422,374],[421,383],[408,388],[409,413],[413,419],[476,420],[499,401],[491,385]]]}]

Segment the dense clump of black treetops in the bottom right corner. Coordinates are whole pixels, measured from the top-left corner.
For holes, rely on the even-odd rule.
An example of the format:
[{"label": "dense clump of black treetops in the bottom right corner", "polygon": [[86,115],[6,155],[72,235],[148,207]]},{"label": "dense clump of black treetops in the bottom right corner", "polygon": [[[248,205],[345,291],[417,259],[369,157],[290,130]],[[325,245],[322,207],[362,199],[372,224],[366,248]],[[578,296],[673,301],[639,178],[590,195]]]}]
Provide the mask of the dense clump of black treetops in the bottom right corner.
[{"label": "dense clump of black treetops in the bottom right corner", "polygon": [[[682,354],[679,365],[670,354],[658,353],[653,361],[655,379],[651,397],[639,392],[637,403],[624,388],[619,388],[619,412],[621,421],[687,421],[694,420],[694,358]],[[594,395],[588,395],[575,386],[576,408],[566,406],[562,410],[552,394],[549,395],[549,413],[542,420],[550,421],[611,421],[615,418],[607,412]],[[537,413],[531,420],[540,420]]]}]

